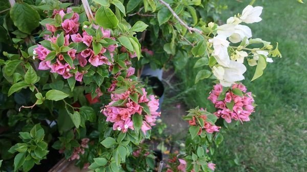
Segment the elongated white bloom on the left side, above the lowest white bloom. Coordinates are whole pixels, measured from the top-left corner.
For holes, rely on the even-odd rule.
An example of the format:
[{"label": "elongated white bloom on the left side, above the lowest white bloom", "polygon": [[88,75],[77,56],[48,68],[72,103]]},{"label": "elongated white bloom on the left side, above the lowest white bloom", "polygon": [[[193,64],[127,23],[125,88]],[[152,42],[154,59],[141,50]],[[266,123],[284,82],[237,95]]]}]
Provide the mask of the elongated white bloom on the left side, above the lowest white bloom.
[{"label": "elongated white bloom on the left side, above the lowest white bloom", "polygon": [[226,37],[224,35],[217,35],[208,41],[213,44],[214,50],[212,55],[216,59],[217,63],[227,67],[230,58],[227,50],[229,42],[226,40]]}]

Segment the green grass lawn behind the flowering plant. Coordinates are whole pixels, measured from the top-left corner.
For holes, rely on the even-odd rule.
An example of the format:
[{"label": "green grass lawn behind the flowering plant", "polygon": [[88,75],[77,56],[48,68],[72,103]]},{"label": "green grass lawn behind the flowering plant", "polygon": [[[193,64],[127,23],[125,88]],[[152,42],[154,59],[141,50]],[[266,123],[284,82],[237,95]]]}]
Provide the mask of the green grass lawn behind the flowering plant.
[{"label": "green grass lawn behind the flowering plant", "polygon": [[[242,13],[249,2],[222,1],[228,5],[222,21]],[[282,58],[274,58],[252,83],[253,72],[245,74],[244,84],[256,95],[258,106],[250,122],[224,135],[214,159],[216,171],[307,171],[307,5],[295,0],[258,0],[254,6],[264,10],[261,22],[249,24],[253,38],[273,45],[279,42]],[[179,77],[185,81],[195,73],[187,70]],[[189,107],[208,107],[206,83],[182,83]]]}]

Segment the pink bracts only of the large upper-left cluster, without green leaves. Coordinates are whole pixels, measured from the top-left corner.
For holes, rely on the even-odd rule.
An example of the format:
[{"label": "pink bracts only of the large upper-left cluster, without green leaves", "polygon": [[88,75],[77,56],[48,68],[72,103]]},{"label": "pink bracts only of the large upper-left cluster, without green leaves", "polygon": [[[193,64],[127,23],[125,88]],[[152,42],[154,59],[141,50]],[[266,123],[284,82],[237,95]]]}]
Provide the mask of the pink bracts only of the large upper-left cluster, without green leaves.
[{"label": "pink bracts only of the large upper-left cluster, without green leaves", "polygon": [[[64,21],[61,23],[60,27],[55,27],[51,24],[46,24],[46,29],[50,31],[51,35],[45,35],[45,39],[51,41],[52,43],[56,43],[58,39],[58,35],[55,36],[55,32],[58,30],[62,30],[64,33],[64,46],[69,46],[71,43],[83,43],[87,46],[87,48],[81,52],[77,52],[75,49],[71,49],[66,53],[58,53],[56,55],[56,60],[54,63],[52,63],[50,60],[46,61],[47,55],[51,52],[48,50],[47,47],[44,47],[43,45],[38,45],[36,48],[34,48],[34,55],[37,55],[37,58],[41,60],[39,63],[38,69],[40,70],[48,70],[51,69],[51,72],[58,73],[59,75],[63,76],[64,79],[68,79],[70,77],[75,76],[75,79],[77,81],[82,81],[83,74],[87,71],[78,70],[76,72],[73,72],[72,69],[75,69],[75,66],[70,66],[65,60],[64,55],[69,55],[72,60],[77,59],[79,62],[79,65],[81,67],[84,67],[87,62],[91,63],[93,66],[99,66],[106,64],[108,66],[112,66],[113,59],[108,59],[103,54],[108,51],[111,55],[111,58],[114,56],[115,48],[117,47],[117,44],[109,45],[108,47],[102,47],[99,54],[95,55],[93,51],[93,37],[89,34],[87,34],[84,30],[79,32],[79,26],[80,23],[79,15],[72,11],[72,9],[68,8],[67,13],[73,13],[73,16],[68,19],[64,19]],[[61,18],[63,19],[65,12],[63,10],[54,10],[54,17],[56,14],[59,14]],[[86,27],[86,26],[85,26]],[[111,31],[104,30],[101,27],[93,26],[92,29],[100,29],[102,32],[102,38],[112,38],[111,37]]]}]

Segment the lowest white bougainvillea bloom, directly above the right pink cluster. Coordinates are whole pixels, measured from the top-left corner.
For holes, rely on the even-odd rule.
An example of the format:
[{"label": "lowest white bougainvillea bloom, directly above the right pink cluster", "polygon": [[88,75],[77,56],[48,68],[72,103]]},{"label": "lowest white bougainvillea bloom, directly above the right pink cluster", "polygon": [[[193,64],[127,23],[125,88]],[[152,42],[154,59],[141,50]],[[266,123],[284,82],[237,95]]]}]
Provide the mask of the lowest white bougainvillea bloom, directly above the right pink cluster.
[{"label": "lowest white bougainvillea bloom, directly above the right pink cluster", "polygon": [[212,68],[213,75],[220,80],[224,87],[229,87],[236,81],[244,80],[243,73],[245,71],[245,65],[236,61],[230,61],[229,67],[213,66]]}]

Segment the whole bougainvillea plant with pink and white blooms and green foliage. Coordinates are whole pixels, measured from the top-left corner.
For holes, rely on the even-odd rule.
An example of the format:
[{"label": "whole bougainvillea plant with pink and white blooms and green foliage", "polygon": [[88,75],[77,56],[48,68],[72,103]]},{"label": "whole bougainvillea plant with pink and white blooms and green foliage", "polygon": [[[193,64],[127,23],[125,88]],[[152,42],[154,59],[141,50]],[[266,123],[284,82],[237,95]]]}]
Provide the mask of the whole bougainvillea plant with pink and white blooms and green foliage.
[{"label": "whole bougainvillea plant with pink and white blooms and green foliage", "polygon": [[163,171],[213,171],[220,131],[230,122],[249,121],[254,112],[253,94],[239,83],[246,65],[256,66],[255,80],[273,62],[270,57],[281,57],[278,44],[252,38],[245,25],[261,21],[262,7],[249,5],[219,26],[206,13],[212,6],[220,12],[216,4],[3,3],[8,10],[0,13],[2,169],[29,171],[55,149],[91,171],[157,171],[146,139],[163,114],[159,97],[140,80],[141,70],[147,64],[180,70],[197,58],[194,82],[217,83],[208,94],[216,111],[198,105],[188,111],[189,134]]}]

